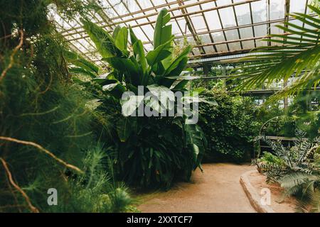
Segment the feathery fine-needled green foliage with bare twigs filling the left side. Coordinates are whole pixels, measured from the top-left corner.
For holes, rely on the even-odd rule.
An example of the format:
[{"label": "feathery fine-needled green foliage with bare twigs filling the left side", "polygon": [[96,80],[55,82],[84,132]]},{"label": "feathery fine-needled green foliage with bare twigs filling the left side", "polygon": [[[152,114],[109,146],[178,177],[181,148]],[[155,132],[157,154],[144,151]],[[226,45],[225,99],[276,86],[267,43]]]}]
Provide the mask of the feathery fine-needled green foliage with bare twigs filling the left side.
[{"label": "feathery fine-needled green foliage with bare twigs filling the left side", "polygon": [[[89,7],[0,1],[0,211],[125,211],[127,189],[97,167],[106,157],[89,148],[97,143],[92,114],[48,21],[52,2],[66,16]],[[47,203],[50,188],[57,206]]]}]

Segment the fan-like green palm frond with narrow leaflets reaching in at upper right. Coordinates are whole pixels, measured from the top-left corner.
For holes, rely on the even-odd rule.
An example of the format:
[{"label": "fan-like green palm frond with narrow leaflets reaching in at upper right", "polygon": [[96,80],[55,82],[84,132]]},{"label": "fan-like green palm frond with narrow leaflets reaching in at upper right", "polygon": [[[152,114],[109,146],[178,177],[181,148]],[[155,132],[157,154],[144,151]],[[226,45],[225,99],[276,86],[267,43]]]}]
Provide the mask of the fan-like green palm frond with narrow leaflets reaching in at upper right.
[{"label": "fan-like green palm frond with narrow leaflets reaching in at upper right", "polygon": [[252,89],[263,84],[273,82],[295,75],[294,82],[276,94],[273,99],[295,94],[304,89],[319,87],[320,77],[320,10],[309,6],[317,16],[309,16],[304,13],[293,13],[291,16],[299,23],[285,22],[281,28],[284,34],[270,35],[264,41],[276,43],[268,47],[260,47],[254,50],[255,54],[241,60],[244,64],[236,70],[240,72],[242,84],[238,89]]}]

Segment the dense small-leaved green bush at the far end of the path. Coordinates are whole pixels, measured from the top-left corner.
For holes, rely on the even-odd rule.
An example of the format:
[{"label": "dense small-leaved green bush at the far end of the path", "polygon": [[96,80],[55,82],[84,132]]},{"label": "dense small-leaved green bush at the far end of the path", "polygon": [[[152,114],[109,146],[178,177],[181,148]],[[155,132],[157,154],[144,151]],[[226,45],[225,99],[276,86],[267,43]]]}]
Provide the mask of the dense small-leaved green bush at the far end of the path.
[{"label": "dense small-leaved green bush at the far end of the path", "polygon": [[253,138],[260,123],[257,107],[250,98],[230,95],[223,90],[206,91],[218,105],[200,105],[200,126],[208,140],[205,160],[245,162],[253,153]]}]

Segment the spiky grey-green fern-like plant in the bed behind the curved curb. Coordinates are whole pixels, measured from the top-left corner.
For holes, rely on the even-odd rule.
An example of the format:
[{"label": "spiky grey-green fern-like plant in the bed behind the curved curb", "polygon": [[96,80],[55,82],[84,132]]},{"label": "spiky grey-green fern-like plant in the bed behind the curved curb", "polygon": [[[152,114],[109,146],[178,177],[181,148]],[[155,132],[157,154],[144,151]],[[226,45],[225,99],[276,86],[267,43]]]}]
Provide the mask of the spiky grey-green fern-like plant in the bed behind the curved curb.
[{"label": "spiky grey-green fern-like plant in the bed behind the curved curb", "polygon": [[281,141],[265,140],[273,150],[255,160],[257,170],[267,176],[267,181],[278,182],[284,188],[282,200],[297,196],[297,210],[319,212],[320,138],[304,140],[305,133],[297,132],[297,142],[292,148],[284,148]]}]

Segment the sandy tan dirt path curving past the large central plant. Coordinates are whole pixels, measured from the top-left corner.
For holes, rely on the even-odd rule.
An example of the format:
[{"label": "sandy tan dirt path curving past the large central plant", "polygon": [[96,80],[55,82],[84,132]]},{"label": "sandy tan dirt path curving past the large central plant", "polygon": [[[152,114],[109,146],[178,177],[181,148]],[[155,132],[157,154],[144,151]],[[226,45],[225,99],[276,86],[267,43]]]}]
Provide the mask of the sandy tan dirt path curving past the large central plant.
[{"label": "sandy tan dirt path curving past the large central plant", "polygon": [[143,196],[142,212],[255,212],[239,179],[242,173],[255,170],[249,165],[204,164],[191,182],[179,183],[169,192]]}]

